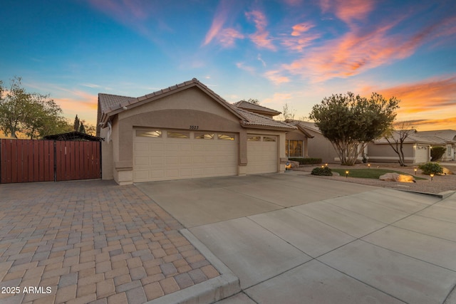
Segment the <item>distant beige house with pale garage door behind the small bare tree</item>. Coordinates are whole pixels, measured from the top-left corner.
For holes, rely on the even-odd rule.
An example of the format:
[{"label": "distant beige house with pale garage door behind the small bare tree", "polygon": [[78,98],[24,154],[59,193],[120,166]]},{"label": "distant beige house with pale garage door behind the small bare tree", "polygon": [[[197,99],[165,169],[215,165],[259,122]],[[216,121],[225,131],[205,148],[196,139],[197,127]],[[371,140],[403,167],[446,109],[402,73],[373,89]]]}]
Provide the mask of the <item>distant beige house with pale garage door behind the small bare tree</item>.
[{"label": "distant beige house with pale garage door behind the small bare tree", "polygon": [[[390,142],[400,139],[397,131],[389,137]],[[408,164],[420,164],[430,161],[430,149],[435,142],[422,137],[415,130],[411,131],[403,142],[404,161]],[[374,140],[368,145],[369,162],[398,162],[399,157],[384,137]]]}]

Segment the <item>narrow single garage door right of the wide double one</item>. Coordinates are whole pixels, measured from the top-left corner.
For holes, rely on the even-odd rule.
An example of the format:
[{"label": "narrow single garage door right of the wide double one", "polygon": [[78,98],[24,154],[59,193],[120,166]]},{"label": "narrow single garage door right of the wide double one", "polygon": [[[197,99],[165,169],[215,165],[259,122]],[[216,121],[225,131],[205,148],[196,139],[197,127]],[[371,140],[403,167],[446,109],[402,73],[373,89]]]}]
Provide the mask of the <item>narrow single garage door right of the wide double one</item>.
[{"label": "narrow single garage door right of the wide double one", "polygon": [[277,137],[247,135],[247,174],[277,172]]}]

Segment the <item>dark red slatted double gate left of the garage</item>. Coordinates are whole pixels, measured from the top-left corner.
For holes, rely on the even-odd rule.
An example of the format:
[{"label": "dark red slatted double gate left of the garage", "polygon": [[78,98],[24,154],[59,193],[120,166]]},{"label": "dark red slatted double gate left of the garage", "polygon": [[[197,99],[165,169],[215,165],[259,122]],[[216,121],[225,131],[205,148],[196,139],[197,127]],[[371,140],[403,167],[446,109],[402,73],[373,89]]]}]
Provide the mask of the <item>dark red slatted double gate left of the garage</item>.
[{"label": "dark red slatted double gate left of the garage", "polygon": [[100,142],[0,140],[0,182],[101,178]]}]

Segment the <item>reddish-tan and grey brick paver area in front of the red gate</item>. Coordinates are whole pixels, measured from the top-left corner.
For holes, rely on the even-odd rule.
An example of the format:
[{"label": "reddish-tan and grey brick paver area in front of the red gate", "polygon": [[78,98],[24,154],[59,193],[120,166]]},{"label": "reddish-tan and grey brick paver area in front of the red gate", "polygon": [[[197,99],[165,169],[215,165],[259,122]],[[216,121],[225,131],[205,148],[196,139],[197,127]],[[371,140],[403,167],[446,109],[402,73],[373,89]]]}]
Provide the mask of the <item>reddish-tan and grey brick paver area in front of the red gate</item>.
[{"label": "reddish-tan and grey brick paver area in front of the red gate", "polygon": [[140,304],[219,276],[179,229],[134,185],[1,184],[0,302]]}]

